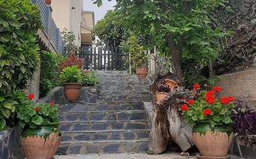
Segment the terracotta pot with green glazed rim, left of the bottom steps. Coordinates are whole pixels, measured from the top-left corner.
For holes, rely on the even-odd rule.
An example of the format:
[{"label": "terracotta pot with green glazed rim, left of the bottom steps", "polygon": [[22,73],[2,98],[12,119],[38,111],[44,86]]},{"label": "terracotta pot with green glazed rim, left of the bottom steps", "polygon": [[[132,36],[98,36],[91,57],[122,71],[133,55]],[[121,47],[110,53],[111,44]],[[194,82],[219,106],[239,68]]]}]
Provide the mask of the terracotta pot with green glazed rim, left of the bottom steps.
[{"label": "terracotta pot with green glazed rim, left of the bottom steps", "polygon": [[60,145],[59,123],[45,124],[21,133],[21,146],[27,159],[50,159]]}]

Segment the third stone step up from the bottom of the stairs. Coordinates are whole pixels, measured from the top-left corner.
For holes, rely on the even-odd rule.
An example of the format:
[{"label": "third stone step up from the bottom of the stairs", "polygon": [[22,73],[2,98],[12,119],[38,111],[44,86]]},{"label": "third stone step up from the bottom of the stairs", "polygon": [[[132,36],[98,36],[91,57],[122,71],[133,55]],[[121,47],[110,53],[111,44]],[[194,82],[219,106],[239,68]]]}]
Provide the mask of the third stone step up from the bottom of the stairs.
[{"label": "third stone step up from the bottom of the stairs", "polygon": [[147,120],[136,121],[61,121],[60,131],[102,131],[102,130],[149,129]]}]

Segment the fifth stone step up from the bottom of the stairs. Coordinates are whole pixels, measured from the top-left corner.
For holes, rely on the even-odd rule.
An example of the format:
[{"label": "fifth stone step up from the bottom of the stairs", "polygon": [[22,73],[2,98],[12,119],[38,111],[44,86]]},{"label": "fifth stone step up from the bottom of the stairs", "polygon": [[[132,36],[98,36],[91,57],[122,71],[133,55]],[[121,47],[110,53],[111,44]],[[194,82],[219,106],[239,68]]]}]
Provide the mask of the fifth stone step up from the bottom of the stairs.
[{"label": "fifth stone step up from the bottom of the stairs", "polygon": [[98,104],[83,104],[83,103],[70,103],[66,105],[59,105],[58,111],[65,112],[80,112],[80,111],[121,111],[121,110],[144,110],[142,102],[124,101],[112,103],[98,103]]}]

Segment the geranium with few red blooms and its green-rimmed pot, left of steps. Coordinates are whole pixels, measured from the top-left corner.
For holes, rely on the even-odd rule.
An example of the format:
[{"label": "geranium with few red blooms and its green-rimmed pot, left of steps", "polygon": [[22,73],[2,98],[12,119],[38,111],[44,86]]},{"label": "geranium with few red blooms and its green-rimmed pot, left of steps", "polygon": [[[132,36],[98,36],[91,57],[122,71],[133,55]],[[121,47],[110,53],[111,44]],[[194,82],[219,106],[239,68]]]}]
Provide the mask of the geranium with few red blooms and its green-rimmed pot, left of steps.
[{"label": "geranium with few red blooms and its green-rimmed pot, left of steps", "polygon": [[53,158],[60,144],[57,106],[53,102],[35,105],[31,100],[24,99],[17,108],[17,118],[25,157]]}]

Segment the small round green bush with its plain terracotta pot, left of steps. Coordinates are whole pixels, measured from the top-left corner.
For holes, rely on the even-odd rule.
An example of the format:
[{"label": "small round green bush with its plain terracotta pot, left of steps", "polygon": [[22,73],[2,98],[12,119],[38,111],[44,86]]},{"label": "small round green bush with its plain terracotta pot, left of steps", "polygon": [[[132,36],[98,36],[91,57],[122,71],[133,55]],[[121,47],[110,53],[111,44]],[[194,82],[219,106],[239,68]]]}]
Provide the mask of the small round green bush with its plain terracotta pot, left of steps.
[{"label": "small round green bush with its plain terracotta pot, left of steps", "polygon": [[60,72],[60,83],[64,87],[65,96],[68,100],[78,100],[82,84],[80,83],[81,70],[77,66],[65,67]]}]

